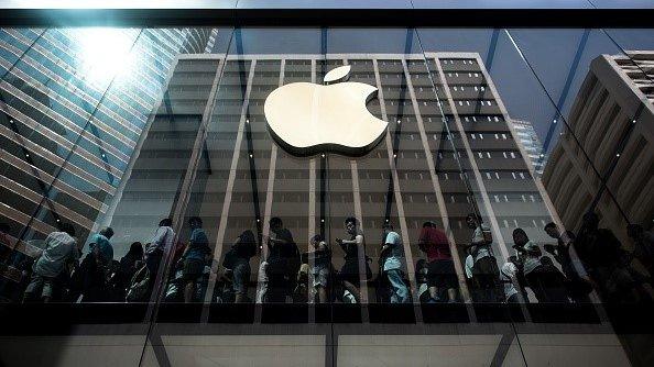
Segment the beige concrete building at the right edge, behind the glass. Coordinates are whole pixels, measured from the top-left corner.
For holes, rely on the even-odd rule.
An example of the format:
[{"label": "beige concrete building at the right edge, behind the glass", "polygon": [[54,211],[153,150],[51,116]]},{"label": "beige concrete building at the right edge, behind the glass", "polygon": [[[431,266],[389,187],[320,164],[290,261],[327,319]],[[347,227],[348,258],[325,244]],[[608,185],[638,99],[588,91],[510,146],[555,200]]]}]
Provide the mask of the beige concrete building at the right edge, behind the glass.
[{"label": "beige concrete building at the right edge, behind the glass", "polygon": [[[633,60],[602,55],[591,63],[568,118],[570,131],[562,133],[543,175],[569,229],[579,227],[602,192],[596,211],[623,243],[625,216],[645,227],[654,218],[654,53],[629,55]],[[599,177],[609,175],[607,192]]]}]

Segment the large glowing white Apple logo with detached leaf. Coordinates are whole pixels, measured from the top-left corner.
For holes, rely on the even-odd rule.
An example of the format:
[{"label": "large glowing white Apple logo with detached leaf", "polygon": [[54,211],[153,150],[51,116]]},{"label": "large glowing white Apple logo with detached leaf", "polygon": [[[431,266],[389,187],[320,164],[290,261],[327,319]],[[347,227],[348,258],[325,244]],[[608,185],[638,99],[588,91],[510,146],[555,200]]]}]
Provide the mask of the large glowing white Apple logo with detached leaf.
[{"label": "large glowing white Apple logo with detached leaf", "polygon": [[273,90],[263,110],[274,141],[296,156],[369,153],[384,137],[388,122],[366,108],[377,88],[340,82],[349,74],[350,66],[341,66],[325,75],[325,86],[292,82]]}]

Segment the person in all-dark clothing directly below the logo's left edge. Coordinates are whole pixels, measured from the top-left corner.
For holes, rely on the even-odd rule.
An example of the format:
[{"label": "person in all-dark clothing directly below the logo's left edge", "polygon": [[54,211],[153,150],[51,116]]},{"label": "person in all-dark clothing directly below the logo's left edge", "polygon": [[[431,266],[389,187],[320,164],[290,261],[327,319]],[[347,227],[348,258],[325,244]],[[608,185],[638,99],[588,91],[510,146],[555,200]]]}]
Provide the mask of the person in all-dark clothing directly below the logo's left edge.
[{"label": "person in all-dark clothing directly below the logo's left edge", "polygon": [[292,293],[295,275],[299,270],[299,249],[293,241],[291,231],[284,227],[279,218],[270,220],[268,238],[268,302],[286,302]]}]

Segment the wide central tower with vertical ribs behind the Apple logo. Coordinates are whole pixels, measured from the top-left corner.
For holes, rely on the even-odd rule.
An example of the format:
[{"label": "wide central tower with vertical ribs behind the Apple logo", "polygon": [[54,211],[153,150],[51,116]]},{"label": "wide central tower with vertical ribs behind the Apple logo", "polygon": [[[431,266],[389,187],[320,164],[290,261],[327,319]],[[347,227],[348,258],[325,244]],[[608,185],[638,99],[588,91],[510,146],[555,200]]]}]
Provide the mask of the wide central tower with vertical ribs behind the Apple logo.
[{"label": "wide central tower with vertical ribs behind the Apple logo", "polygon": [[[413,266],[423,256],[417,237],[432,220],[446,229],[465,289],[462,248],[471,236],[465,216],[476,207],[493,230],[500,262],[512,254],[517,226],[545,241],[543,226],[553,221],[546,194],[480,56],[427,56],[425,63],[423,55],[403,54],[181,55],[107,221],[117,230],[115,244],[127,251],[167,215],[185,241],[187,219],[198,215],[219,260],[242,231],[262,241],[269,220],[279,216],[307,252],[312,235],[334,243],[346,235],[344,220],[356,216],[372,264],[382,225],[399,230],[414,282]],[[344,64],[351,66],[350,81],[379,89],[368,108],[389,122],[389,134],[359,158],[287,154],[268,131],[265,98],[285,84],[319,84]],[[344,254],[336,247],[338,269]],[[262,246],[252,258],[253,270],[265,252]],[[373,302],[374,288],[362,297]]]}]

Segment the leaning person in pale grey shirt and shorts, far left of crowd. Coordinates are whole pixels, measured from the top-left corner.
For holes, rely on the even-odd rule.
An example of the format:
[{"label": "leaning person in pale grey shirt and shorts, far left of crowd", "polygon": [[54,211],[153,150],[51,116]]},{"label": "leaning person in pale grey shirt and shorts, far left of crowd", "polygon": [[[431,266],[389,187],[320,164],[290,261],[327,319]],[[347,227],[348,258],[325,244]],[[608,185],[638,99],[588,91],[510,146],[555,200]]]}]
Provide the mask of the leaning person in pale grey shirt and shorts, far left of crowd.
[{"label": "leaning person in pale grey shirt and shorts, far left of crowd", "polygon": [[75,227],[69,223],[63,223],[59,227],[59,232],[53,232],[45,238],[45,248],[34,263],[32,279],[23,294],[24,302],[35,298],[48,302],[57,291],[56,278],[67,265],[79,259]]}]

